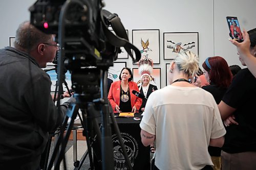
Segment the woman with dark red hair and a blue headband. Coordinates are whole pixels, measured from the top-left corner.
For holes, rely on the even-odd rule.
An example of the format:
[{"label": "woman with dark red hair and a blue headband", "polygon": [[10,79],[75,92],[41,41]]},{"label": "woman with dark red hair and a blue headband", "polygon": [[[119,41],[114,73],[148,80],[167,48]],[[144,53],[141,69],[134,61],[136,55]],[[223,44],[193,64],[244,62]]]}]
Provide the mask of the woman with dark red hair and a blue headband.
[{"label": "woman with dark red hair and a blue headband", "polygon": [[[232,81],[228,64],[224,58],[217,56],[208,57],[202,66],[205,79],[209,82],[209,85],[202,88],[210,92],[219,104]],[[209,146],[208,152],[214,163],[214,169],[221,169],[221,148]]]}]

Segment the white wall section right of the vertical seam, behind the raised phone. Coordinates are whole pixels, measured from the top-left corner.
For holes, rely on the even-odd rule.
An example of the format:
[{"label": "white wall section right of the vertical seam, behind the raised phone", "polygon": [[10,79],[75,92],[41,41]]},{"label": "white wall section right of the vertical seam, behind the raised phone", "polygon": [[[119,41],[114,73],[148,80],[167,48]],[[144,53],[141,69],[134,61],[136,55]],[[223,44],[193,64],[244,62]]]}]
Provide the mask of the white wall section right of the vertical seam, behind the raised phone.
[{"label": "white wall section right of the vertical seam, behind the raised phone", "polygon": [[249,31],[256,28],[255,0],[215,0],[214,30],[215,56],[226,59],[229,65],[237,64],[244,68],[238,60],[236,46],[229,42],[229,30],[226,16],[237,16],[241,28]]}]

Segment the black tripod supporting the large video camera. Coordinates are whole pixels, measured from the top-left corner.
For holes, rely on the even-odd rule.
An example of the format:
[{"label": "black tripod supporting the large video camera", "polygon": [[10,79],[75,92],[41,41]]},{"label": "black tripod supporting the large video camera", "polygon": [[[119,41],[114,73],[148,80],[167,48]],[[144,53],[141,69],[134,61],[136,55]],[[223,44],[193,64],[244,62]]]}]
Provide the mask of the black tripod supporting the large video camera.
[{"label": "black tripod supporting the large video camera", "polygon": [[[114,169],[114,157],[113,157],[113,143],[112,143],[112,136],[111,136],[111,127],[109,123],[109,118],[112,118],[112,122],[114,125],[114,129],[119,136],[119,142],[122,148],[123,155],[126,159],[126,163],[129,169],[132,169],[131,162],[127,156],[126,149],[123,144],[123,139],[121,138],[120,131],[118,129],[115,117],[113,113],[110,114],[109,111],[109,103],[108,99],[106,98],[107,92],[103,89],[107,89],[107,72],[108,71],[102,71],[100,70],[100,96],[96,94],[97,85],[89,82],[84,81],[88,76],[90,78],[94,77],[98,79],[99,76],[99,70],[93,69],[90,70],[85,76],[83,74],[76,74],[72,73],[72,84],[73,81],[78,82],[76,84],[76,87],[84,87],[85,84],[79,86],[81,82],[86,82],[86,87],[89,87],[87,89],[76,89],[78,93],[74,94],[74,98],[76,99],[76,103],[70,104],[65,120],[63,120],[63,123],[60,127],[60,135],[57,139],[52,158],[50,160],[49,166],[47,169],[51,169],[54,163],[54,168],[58,169],[61,160],[63,159],[64,167],[65,165],[65,148],[68,142],[68,138],[71,132],[71,129],[74,125],[74,120],[77,116],[78,109],[82,112],[82,118],[83,118],[83,134],[86,136],[87,146],[88,146],[88,152],[86,154],[89,155],[90,159],[90,169],[94,169],[94,165],[96,165],[99,169]],[[104,74],[102,73],[104,72]],[[104,76],[103,76],[104,75]],[[83,79],[81,79],[83,78]],[[95,80],[95,79],[94,79]],[[103,81],[104,80],[104,81]],[[97,82],[97,80],[95,81]],[[88,84],[89,83],[89,84]],[[104,87],[104,88],[103,88]],[[79,92],[80,91],[80,92]],[[82,91],[85,91],[84,93]],[[101,131],[99,129],[99,123],[98,123],[98,117],[101,114]],[[71,118],[71,121],[69,124],[68,119]],[[68,127],[66,129],[66,126]],[[64,131],[66,129],[66,134],[64,135]],[[101,145],[100,145],[100,144]],[[92,146],[92,147],[91,147]],[[58,152],[58,148],[60,147],[60,150]],[[99,152],[96,152],[101,150],[101,154]],[[95,154],[95,158],[93,159],[92,151]],[[56,159],[54,159],[56,158]],[[84,157],[83,157],[84,158]],[[84,160],[84,159],[83,159]],[[79,168],[81,167],[81,164]]]}]

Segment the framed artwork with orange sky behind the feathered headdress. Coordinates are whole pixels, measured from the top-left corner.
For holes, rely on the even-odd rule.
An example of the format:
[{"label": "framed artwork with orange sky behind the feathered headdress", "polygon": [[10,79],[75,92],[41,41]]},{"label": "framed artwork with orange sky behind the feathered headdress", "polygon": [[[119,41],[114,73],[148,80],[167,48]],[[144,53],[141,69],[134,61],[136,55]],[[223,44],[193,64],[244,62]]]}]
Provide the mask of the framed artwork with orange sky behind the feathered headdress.
[{"label": "framed artwork with orange sky behind the feathered headdress", "polygon": [[[155,79],[151,81],[150,84],[157,86],[157,89],[161,88],[161,68],[153,68],[153,72],[151,76]],[[140,86],[140,75],[139,75],[139,68],[133,68],[133,81]]]}]

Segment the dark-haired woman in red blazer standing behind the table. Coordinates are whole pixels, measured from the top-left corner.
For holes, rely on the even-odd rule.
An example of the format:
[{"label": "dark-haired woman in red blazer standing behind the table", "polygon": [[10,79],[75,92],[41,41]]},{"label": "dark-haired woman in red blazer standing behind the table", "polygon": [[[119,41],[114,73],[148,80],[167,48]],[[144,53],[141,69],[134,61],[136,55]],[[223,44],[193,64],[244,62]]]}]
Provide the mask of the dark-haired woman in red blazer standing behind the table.
[{"label": "dark-haired woman in red blazer standing behind the table", "polygon": [[142,99],[132,93],[139,91],[137,83],[133,82],[130,68],[124,67],[119,75],[120,81],[111,84],[108,99],[114,112],[138,112]]}]

